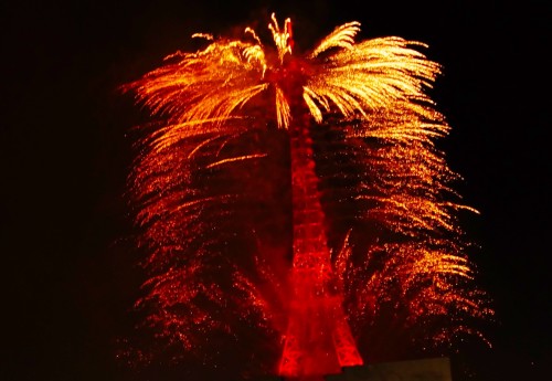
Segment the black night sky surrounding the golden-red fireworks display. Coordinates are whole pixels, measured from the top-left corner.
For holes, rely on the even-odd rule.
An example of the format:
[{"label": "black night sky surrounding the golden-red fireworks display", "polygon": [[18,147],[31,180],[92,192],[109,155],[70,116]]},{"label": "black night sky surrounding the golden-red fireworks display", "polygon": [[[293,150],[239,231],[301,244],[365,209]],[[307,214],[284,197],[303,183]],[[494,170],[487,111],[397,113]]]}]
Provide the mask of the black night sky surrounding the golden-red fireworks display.
[{"label": "black night sky surrounding the golden-red fireworks display", "polygon": [[[222,1],[221,1],[222,3]],[[446,4],[445,4],[446,3]],[[429,44],[444,65],[434,97],[442,147],[481,211],[465,227],[495,299],[492,349],[460,353],[458,380],[542,380],[552,362],[550,20],[545,1],[74,1],[3,3],[0,379],[116,380],[114,311],[138,281],[117,273],[128,233],[127,133],[139,110],[117,86],[205,31],[232,34],[272,11],[308,47],[358,20],[361,38]],[[545,135],[546,134],[546,135]],[[3,336],[6,337],[6,336]],[[453,362],[454,364],[455,362]],[[456,381],[456,380],[455,380]]]}]

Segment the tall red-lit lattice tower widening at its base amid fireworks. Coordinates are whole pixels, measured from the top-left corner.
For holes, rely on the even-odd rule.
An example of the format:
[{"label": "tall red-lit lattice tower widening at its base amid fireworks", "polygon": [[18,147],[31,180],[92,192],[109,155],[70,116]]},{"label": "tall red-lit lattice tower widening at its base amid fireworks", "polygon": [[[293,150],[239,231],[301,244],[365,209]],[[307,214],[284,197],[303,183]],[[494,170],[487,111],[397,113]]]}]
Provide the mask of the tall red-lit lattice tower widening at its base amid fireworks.
[{"label": "tall red-lit lattice tower widening at its base amid fireworks", "polygon": [[[286,22],[287,44],[293,46],[291,24]],[[333,272],[320,204],[318,176],[309,129],[316,127],[302,98],[305,67],[285,57],[268,78],[283,89],[290,106],[293,266],[290,310],[278,373],[285,377],[321,377],[342,367],[360,366],[347,322],[342,285]]]}]

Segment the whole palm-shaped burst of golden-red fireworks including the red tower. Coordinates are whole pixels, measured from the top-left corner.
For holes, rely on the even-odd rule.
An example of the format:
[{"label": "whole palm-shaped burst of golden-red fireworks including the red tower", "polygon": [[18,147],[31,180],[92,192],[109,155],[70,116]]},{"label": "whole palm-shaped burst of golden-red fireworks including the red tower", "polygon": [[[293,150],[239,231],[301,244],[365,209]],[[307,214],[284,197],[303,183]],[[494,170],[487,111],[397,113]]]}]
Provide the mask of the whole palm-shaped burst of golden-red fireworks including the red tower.
[{"label": "whole palm-shaped burst of golden-red fireworks including the red tower", "polygon": [[276,54],[251,28],[198,33],[204,50],[125,87],[162,120],[130,176],[146,324],[189,351],[247,326],[285,377],[361,363],[354,338],[372,361],[392,357],[382,342],[482,337],[469,322],[492,310],[456,218],[477,211],[449,201],[458,176],[434,144],[449,127],[425,93],[440,66],[420,42],[355,42],[358,22],[304,56],[289,19],[268,29]]}]

